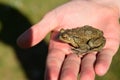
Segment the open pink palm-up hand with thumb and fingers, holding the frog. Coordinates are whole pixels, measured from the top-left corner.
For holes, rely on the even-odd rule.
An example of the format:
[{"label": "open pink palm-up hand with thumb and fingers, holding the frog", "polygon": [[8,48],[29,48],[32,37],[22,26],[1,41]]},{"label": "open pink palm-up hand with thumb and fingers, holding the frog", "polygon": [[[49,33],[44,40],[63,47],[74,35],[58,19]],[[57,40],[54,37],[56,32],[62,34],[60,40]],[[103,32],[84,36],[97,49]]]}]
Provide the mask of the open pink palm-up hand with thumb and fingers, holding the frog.
[{"label": "open pink palm-up hand with thumb and fingers, holding the frog", "polygon": [[[94,1],[72,0],[47,13],[18,38],[18,45],[28,48],[39,43],[52,31],[46,61],[46,80],[77,80],[78,73],[80,80],[94,80],[95,74],[102,76],[108,71],[120,42],[119,7]],[[60,43],[55,36],[61,28],[85,24],[102,29],[106,45],[99,54],[87,54],[81,59],[70,54],[70,46]]]}]

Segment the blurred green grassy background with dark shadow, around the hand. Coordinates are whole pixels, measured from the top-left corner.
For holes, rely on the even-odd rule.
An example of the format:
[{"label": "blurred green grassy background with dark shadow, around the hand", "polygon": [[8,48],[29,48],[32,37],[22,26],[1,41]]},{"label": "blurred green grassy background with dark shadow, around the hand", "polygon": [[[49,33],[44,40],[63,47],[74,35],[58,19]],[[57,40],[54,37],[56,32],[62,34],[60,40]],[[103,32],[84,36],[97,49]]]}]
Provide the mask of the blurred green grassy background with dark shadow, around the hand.
[{"label": "blurred green grassy background with dark shadow, around the hand", "polygon": [[[20,49],[16,39],[48,11],[67,1],[0,0],[0,80],[43,80],[49,35],[30,49]],[[96,76],[96,80],[119,79],[118,51],[108,73],[103,77]]]}]

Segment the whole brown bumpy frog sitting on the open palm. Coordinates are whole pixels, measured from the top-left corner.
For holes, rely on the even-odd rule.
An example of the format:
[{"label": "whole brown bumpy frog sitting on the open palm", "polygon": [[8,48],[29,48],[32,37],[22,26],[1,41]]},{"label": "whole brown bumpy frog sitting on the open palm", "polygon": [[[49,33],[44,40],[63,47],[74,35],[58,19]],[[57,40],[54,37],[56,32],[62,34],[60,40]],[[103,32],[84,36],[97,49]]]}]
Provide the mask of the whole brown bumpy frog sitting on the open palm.
[{"label": "whole brown bumpy frog sitting on the open palm", "polygon": [[99,52],[106,43],[102,30],[89,25],[72,29],[60,29],[59,40],[71,46],[73,53],[78,56],[91,52]]}]

